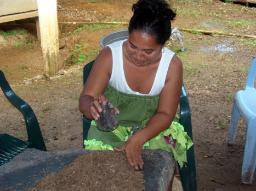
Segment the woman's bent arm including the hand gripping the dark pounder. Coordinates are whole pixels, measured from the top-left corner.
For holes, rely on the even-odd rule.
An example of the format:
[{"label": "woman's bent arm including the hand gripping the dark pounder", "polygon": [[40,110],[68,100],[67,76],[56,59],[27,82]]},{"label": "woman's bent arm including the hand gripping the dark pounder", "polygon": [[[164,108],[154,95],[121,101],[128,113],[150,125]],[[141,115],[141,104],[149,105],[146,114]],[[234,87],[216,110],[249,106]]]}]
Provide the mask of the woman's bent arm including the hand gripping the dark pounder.
[{"label": "woman's bent arm including the hand gripping the dark pounder", "polygon": [[[96,57],[83,91],[79,97],[79,111],[89,120],[98,120],[101,112],[99,103],[106,104],[103,95],[112,72],[112,52],[105,47]],[[98,111],[97,111],[98,110]]]}]

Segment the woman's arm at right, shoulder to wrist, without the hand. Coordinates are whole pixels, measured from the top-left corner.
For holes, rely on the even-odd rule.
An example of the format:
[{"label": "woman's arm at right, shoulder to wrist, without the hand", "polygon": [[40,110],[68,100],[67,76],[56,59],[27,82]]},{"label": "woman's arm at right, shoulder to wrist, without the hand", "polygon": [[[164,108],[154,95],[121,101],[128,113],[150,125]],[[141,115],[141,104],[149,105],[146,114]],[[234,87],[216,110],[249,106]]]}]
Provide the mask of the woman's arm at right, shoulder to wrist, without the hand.
[{"label": "woman's arm at right, shoulder to wrist, without the hand", "polygon": [[[145,126],[144,139],[148,141],[164,130],[172,123],[180,100],[183,82],[183,67],[180,59],[174,55],[169,65],[166,83],[160,93],[157,112]],[[139,133],[139,132],[138,132]]]}]

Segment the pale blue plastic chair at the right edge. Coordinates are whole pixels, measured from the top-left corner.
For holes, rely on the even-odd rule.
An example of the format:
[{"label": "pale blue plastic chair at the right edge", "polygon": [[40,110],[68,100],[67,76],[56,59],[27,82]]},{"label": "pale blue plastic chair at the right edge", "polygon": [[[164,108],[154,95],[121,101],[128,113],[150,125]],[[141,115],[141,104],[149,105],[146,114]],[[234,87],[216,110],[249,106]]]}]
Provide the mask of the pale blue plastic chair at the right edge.
[{"label": "pale blue plastic chair at the right edge", "polygon": [[242,183],[252,184],[256,166],[256,56],[253,57],[246,80],[246,87],[238,91],[235,96],[234,106],[229,127],[229,145],[233,145],[240,115],[247,121],[246,144],[244,147]]}]

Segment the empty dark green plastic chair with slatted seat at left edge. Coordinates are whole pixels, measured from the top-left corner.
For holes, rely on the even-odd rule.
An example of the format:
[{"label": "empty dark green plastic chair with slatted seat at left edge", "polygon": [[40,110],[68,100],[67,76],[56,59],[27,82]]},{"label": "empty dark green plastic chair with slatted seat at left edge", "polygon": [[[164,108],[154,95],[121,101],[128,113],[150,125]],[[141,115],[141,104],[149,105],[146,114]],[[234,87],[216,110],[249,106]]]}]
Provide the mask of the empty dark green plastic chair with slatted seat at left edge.
[{"label": "empty dark green plastic chair with slatted seat at left edge", "polygon": [[0,135],[0,166],[12,160],[26,148],[47,151],[35,113],[29,104],[13,92],[2,70],[0,70],[0,87],[9,102],[24,116],[28,137],[27,141],[23,141],[6,133]]}]

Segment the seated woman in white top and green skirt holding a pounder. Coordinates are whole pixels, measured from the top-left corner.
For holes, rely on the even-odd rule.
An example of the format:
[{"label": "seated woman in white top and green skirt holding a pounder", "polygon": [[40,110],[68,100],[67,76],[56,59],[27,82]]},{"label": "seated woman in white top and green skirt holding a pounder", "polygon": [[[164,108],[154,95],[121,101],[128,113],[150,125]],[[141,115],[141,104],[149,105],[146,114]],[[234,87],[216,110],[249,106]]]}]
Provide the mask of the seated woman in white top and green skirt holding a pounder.
[{"label": "seated woman in white top and green skirt holding a pounder", "polygon": [[[79,98],[79,110],[89,120],[98,120],[100,103],[111,102],[120,126],[103,132],[93,121],[84,144],[91,150],[125,151],[136,170],[143,169],[143,148],[161,148],[182,167],[192,145],[175,117],[183,67],[164,47],[175,13],[162,0],[140,0],[132,10],[128,39],[99,53]],[[135,134],[132,127],[139,127]]]}]

